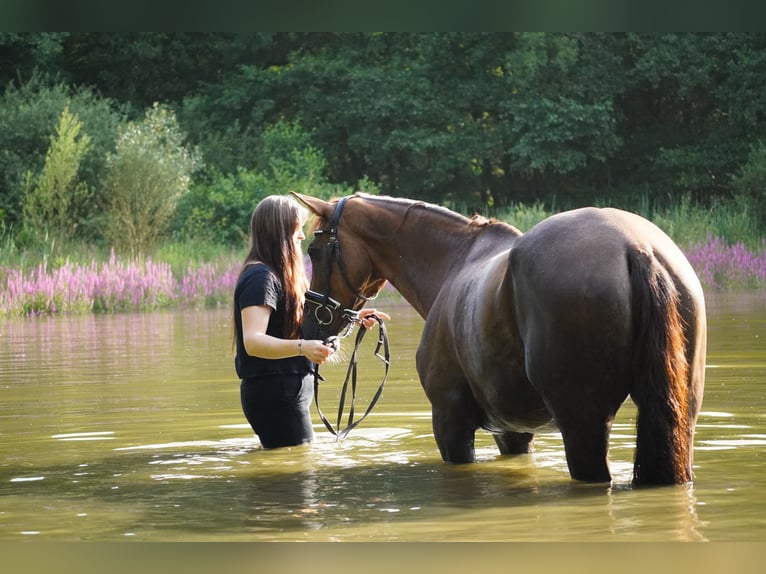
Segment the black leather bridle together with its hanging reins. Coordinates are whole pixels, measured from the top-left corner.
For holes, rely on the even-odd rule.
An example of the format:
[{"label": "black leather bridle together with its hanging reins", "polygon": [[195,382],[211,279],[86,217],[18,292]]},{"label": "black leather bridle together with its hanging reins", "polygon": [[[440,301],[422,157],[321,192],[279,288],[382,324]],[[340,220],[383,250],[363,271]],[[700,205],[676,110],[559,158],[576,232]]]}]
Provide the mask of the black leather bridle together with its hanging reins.
[{"label": "black leather bridle together with its hanging reins", "polygon": [[[340,313],[341,319],[347,323],[343,335],[340,335],[342,338],[348,337],[351,334],[354,325],[361,323],[361,320],[359,319],[359,311],[355,311],[353,308],[344,308],[337,299],[330,297],[333,261],[337,262],[338,269],[340,270],[341,277],[346,283],[346,286],[352,293],[354,293],[355,299],[352,307],[359,301],[372,301],[377,297],[377,295],[375,297],[365,297],[351,285],[351,281],[348,278],[348,273],[346,272],[346,267],[344,266],[343,259],[340,255],[340,242],[338,241],[338,222],[340,221],[340,216],[343,214],[343,207],[346,205],[346,202],[353,197],[353,195],[350,195],[341,198],[335,205],[335,210],[333,211],[332,217],[330,218],[330,222],[327,227],[314,232],[315,235],[322,235],[325,233],[329,235],[328,246],[330,248],[330,257],[327,258],[329,266],[327,270],[327,291],[325,293],[318,293],[317,291],[308,290],[306,291],[305,296],[307,303],[315,305],[314,319],[316,319],[319,325],[324,326],[331,324],[335,320],[335,313]],[[319,365],[313,366],[314,401],[317,407],[317,413],[319,414],[319,418],[322,419],[322,422],[324,423],[327,430],[335,435],[336,440],[345,438],[353,428],[355,428],[367,417],[368,414],[370,414],[370,411],[372,411],[375,403],[378,402],[378,399],[383,393],[383,385],[385,385],[386,379],[388,378],[388,370],[391,364],[389,360],[391,353],[388,345],[388,334],[386,332],[386,326],[383,323],[383,320],[375,315],[373,315],[373,317],[378,322],[378,343],[375,347],[374,354],[385,365],[385,372],[377,391],[367,405],[367,410],[360,418],[354,420],[357,387],[357,352],[359,351],[359,346],[362,343],[362,339],[364,338],[367,329],[360,328],[356,335],[356,341],[354,342],[354,352],[351,355],[348,370],[346,371],[346,378],[343,381],[343,388],[340,393],[340,402],[338,405],[338,421],[336,426],[333,426],[333,424],[327,420],[327,417],[325,417],[325,415],[322,413],[322,409],[319,408],[319,382],[324,381],[324,378],[319,374]],[[329,339],[327,341],[329,341]],[[383,355],[380,354],[381,348],[383,348]],[[346,426],[341,429],[343,410],[346,406],[346,395],[348,392],[349,382],[351,383],[351,401],[349,404],[348,419]]]}]

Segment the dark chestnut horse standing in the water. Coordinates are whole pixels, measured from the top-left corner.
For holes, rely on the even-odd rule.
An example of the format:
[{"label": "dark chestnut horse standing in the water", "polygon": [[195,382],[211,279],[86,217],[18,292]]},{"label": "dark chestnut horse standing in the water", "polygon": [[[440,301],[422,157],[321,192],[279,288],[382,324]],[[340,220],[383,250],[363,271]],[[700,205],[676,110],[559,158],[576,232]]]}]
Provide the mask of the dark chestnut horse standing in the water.
[{"label": "dark chestnut horse standing in the water", "polygon": [[691,481],[705,303],[654,224],[583,208],[522,234],[406,199],[295,196],[318,216],[304,335],[338,333],[390,281],[425,319],[416,363],[445,461],[473,462],[479,428],[503,454],[558,428],[571,477],[610,481],[611,424],[630,395],[634,484]]}]

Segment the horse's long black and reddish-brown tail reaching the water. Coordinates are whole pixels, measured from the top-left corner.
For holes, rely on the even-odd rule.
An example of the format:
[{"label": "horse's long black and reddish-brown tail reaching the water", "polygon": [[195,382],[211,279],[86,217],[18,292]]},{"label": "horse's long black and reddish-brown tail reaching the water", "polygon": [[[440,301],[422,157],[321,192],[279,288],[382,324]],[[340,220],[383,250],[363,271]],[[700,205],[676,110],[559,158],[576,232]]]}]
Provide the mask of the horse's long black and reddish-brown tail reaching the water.
[{"label": "horse's long black and reddish-brown tail reaching the water", "polygon": [[638,407],[634,484],[692,478],[689,363],[679,293],[651,253],[628,256],[634,333],[631,397]]}]

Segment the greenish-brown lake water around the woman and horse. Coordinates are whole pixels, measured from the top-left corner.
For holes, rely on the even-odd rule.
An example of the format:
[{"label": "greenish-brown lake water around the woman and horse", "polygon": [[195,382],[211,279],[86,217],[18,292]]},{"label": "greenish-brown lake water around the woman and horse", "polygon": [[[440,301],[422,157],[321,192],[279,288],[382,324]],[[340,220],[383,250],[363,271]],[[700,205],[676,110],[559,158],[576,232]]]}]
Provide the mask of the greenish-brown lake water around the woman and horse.
[{"label": "greenish-brown lake water around the woman and horse", "polygon": [[[229,311],[0,320],[0,540],[758,541],[766,535],[766,297],[708,295],[693,486],[632,489],[634,415],[612,485],[569,479],[561,438],[480,463],[439,457],[414,352],[422,321],[392,298],[389,379],[335,442],[264,451],[239,407]],[[382,376],[362,352],[361,399]],[[351,341],[343,344],[346,355]],[[344,365],[325,366],[334,419]]]}]

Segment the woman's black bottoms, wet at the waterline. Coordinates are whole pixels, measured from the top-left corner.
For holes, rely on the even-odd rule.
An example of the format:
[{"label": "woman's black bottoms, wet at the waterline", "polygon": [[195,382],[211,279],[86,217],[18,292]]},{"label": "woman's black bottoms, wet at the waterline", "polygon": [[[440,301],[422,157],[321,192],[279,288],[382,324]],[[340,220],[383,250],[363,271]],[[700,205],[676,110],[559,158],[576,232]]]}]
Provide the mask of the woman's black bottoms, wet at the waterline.
[{"label": "woman's black bottoms, wet at the waterline", "polygon": [[312,374],[243,379],[240,385],[242,411],[263,448],[297,446],[314,439],[313,397]]}]

